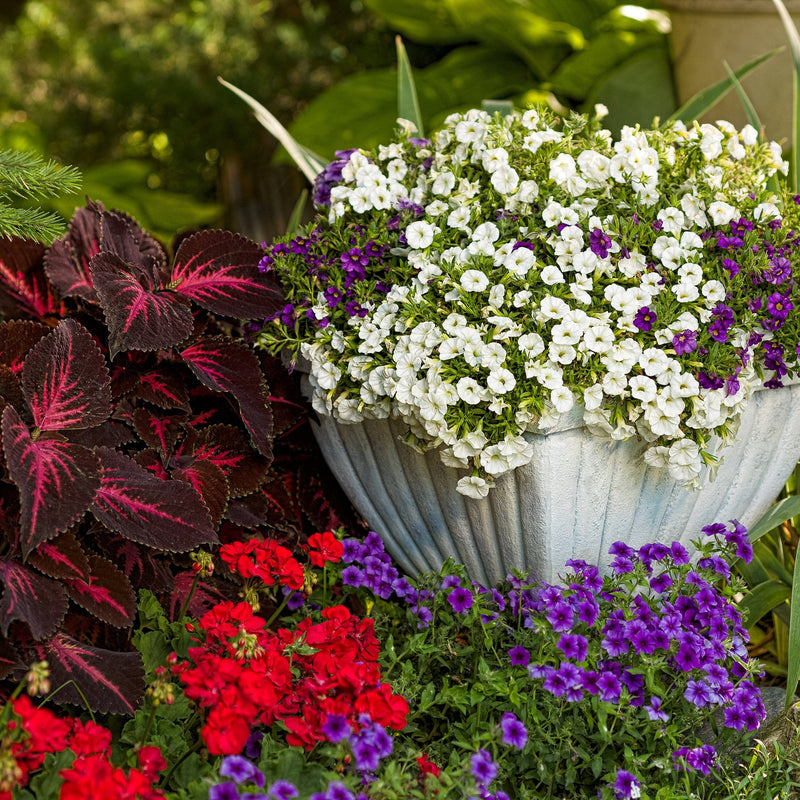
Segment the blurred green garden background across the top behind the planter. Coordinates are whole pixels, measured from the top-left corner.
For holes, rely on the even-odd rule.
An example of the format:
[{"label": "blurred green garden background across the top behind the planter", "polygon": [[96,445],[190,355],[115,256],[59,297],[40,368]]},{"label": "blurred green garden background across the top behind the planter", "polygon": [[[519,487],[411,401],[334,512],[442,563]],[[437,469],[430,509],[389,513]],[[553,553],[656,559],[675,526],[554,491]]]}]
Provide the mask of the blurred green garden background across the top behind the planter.
[{"label": "blurred green garden background across the top behind the planter", "polygon": [[282,233],[303,179],[252,95],[322,156],[388,138],[403,37],[430,128],[484,99],[612,110],[610,127],[675,107],[666,31],[614,0],[6,0],[0,148],[78,167],[77,195],[164,241],[224,226]]}]

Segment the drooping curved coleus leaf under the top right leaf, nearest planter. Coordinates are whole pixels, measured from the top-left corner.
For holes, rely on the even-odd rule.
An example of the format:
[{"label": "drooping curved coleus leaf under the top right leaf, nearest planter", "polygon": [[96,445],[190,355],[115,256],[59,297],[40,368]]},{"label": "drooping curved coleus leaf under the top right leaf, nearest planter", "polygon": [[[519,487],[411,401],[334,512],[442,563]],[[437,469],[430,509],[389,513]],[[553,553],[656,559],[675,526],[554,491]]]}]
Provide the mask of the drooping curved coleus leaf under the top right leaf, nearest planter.
[{"label": "drooping curved coleus leaf under the top right leaf, nearest planter", "polygon": [[262,455],[271,458],[272,410],[255,353],[242,342],[218,336],[187,347],[181,357],[209,389],[236,398],[250,438]]}]

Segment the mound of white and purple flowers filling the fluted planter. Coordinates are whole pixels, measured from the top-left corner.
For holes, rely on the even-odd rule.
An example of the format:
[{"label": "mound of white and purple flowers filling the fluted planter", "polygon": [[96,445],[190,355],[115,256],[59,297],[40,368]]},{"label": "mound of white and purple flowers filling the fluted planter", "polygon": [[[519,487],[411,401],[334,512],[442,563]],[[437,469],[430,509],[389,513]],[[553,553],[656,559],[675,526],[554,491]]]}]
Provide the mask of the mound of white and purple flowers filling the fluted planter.
[{"label": "mound of white and purple flowers filling the fluted planter", "polygon": [[537,108],[413,136],[334,162],[267,248],[286,305],[260,343],[308,360],[318,413],[402,420],[473,498],[578,411],[696,486],[758,376],[797,373],[800,207],[751,126]]}]

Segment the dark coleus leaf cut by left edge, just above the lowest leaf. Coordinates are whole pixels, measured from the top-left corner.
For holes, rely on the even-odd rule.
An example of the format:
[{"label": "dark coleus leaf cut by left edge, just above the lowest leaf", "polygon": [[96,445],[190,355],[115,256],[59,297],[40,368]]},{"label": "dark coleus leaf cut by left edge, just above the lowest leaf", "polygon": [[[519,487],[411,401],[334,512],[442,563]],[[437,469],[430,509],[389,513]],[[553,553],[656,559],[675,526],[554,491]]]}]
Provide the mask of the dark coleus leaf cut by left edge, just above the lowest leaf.
[{"label": "dark coleus leaf cut by left edge, just above the lowest leaf", "polygon": [[0,630],[8,635],[14,620],[27,623],[34,639],[53,634],[67,613],[64,587],[13,559],[0,559]]}]

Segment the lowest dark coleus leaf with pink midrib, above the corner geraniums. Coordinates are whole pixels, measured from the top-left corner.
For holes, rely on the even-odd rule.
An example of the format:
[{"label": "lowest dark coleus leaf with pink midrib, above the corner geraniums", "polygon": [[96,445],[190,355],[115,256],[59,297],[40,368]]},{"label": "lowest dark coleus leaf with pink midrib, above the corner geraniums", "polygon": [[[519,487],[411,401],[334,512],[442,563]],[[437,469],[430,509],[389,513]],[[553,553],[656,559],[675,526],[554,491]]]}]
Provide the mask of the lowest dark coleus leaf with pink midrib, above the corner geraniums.
[{"label": "lowest dark coleus leaf with pink midrib, above the corner geraniums", "polygon": [[58,634],[34,648],[50,666],[50,682],[59,688],[53,700],[101,714],[133,714],[144,695],[144,667],[138,653],[117,653]]}]

